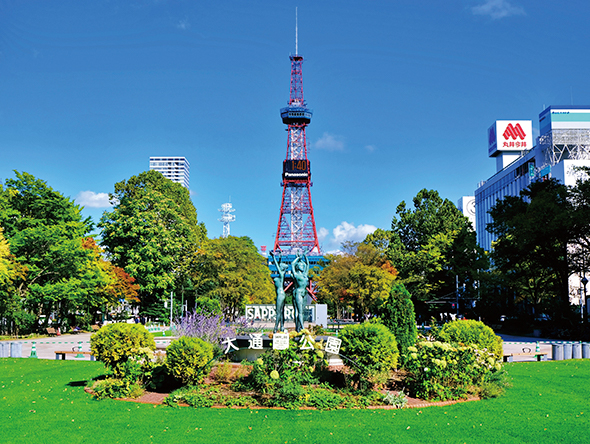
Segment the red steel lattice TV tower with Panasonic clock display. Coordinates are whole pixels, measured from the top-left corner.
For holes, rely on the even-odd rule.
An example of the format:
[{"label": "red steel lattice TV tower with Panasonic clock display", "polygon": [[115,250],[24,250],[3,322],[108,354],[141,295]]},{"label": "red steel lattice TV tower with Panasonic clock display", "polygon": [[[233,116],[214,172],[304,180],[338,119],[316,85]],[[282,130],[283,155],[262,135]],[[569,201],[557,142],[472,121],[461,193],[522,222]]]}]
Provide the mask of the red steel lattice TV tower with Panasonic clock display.
[{"label": "red steel lattice TV tower with Panasonic clock display", "polygon": [[283,161],[283,200],[274,251],[283,254],[321,255],[311,204],[311,168],[307,159],[305,128],[311,122],[312,111],[303,100],[303,57],[297,54],[297,25],[295,25],[295,54],[291,59],[291,93],[289,105],[281,109],[287,125],[287,156]]}]

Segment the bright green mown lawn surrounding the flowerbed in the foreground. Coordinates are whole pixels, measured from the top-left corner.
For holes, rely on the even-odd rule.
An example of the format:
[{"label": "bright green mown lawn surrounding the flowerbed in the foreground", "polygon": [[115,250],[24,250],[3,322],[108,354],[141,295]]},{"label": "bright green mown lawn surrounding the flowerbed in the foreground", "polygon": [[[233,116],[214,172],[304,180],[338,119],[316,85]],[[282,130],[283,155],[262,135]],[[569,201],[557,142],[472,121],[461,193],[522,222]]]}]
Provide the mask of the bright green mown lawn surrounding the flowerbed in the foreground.
[{"label": "bright green mown lawn surrounding the flowerbed in the foreground", "polygon": [[515,363],[498,399],[404,410],[236,410],[96,401],[101,363],[0,359],[0,442],[590,443],[590,360]]}]

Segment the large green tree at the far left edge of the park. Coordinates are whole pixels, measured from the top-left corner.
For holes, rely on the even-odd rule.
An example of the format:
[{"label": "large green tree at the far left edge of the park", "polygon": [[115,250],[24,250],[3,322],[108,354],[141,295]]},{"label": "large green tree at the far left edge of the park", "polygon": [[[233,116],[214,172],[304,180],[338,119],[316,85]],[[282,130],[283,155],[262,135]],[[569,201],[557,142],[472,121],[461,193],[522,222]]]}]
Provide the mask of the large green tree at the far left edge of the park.
[{"label": "large green tree at the far left edge of the park", "polygon": [[[92,229],[81,208],[28,173],[15,172],[0,192],[0,226],[16,262],[26,267],[11,300],[29,326],[51,313],[87,308],[90,257],[82,238]],[[15,308],[16,309],[16,308]],[[24,316],[26,314],[26,316]],[[63,319],[63,316],[62,316]],[[32,321],[32,322],[31,322]]]}]

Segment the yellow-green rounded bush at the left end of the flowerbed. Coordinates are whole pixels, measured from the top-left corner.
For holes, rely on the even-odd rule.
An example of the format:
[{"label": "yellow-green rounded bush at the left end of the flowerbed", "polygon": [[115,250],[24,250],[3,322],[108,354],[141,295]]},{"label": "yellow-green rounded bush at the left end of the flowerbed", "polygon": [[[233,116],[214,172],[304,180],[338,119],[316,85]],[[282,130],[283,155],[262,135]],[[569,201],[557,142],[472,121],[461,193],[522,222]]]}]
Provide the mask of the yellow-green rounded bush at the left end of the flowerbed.
[{"label": "yellow-green rounded bush at the left end of the flowerbed", "polygon": [[145,363],[150,361],[156,343],[153,336],[141,324],[108,324],[90,337],[94,356],[110,368],[116,377],[125,377],[128,371],[135,372],[132,359]]}]

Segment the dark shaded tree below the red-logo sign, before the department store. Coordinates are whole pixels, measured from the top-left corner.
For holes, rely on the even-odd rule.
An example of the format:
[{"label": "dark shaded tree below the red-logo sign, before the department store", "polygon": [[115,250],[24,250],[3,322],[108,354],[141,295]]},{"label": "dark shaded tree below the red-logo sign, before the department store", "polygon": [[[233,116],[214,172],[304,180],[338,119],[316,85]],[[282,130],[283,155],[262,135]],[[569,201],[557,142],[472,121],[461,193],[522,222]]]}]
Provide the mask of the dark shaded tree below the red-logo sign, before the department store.
[{"label": "dark shaded tree below the red-logo sign, before the department store", "polygon": [[504,285],[534,308],[569,309],[568,244],[575,219],[568,188],[555,179],[534,182],[520,196],[499,201],[490,214],[487,229],[497,236],[492,258]]}]

